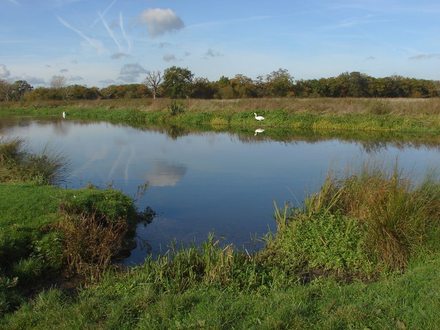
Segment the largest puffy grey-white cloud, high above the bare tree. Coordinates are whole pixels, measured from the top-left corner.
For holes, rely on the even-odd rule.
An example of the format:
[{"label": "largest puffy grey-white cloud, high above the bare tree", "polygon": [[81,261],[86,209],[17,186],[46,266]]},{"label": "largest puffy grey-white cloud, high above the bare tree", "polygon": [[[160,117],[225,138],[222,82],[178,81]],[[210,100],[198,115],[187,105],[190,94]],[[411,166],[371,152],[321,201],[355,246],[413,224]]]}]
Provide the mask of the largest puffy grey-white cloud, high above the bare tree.
[{"label": "largest puffy grey-white cloud, high above the bare tree", "polygon": [[153,37],[181,30],[185,26],[180,17],[169,8],[148,8],[140,14],[140,20],[148,25],[148,33]]}]

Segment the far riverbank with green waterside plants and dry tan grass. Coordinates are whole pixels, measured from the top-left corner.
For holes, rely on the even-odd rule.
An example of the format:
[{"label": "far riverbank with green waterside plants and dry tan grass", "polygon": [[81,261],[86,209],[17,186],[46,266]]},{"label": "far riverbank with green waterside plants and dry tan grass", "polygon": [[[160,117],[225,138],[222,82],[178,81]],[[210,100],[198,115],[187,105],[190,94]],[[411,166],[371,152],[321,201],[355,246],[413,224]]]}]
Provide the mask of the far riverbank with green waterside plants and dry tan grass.
[{"label": "far riverbank with green waterside plants and dry tan grass", "polygon": [[[434,134],[440,99],[264,98],[239,100],[96,100],[2,102],[0,115],[61,115],[130,124],[205,125],[212,129],[271,127]],[[265,120],[256,121],[254,112]]]}]

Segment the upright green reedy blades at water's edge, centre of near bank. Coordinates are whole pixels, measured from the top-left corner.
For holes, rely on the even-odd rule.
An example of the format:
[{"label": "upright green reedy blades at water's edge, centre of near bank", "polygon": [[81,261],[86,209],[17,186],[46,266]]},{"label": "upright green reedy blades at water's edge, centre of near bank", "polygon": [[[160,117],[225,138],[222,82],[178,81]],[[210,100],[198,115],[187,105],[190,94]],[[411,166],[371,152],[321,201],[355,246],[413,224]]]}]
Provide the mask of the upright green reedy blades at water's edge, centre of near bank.
[{"label": "upright green reedy blades at water's edge, centre of near bank", "polygon": [[256,270],[252,256],[237,252],[232,245],[221,245],[221,239],[209,234],[208,239],[197,246],[170,249],[152,259],[145,260],[136,272],[166,292],[183,292],[197,285],[222,285],[230,289],[251,289],[261,285],[264,276]]}]

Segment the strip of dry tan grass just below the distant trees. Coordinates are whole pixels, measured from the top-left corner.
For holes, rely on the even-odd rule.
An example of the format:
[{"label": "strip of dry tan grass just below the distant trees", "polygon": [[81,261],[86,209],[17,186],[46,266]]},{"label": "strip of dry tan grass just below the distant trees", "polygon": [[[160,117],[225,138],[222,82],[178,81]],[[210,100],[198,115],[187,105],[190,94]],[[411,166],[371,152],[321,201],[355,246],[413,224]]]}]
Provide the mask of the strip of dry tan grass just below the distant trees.
[{"label": "strip of dry tan grass just below the distant trees", "polygon": [[[74,107],[104,109],[166,110],[171,100],[77,100],[3,102],[3,108],[19,107]],[[232,100],[178,100],[186,111],[246,112],[283,109],[287,113],[393,113],[395,115],[440,115],[440,98],[247,98]]]}]

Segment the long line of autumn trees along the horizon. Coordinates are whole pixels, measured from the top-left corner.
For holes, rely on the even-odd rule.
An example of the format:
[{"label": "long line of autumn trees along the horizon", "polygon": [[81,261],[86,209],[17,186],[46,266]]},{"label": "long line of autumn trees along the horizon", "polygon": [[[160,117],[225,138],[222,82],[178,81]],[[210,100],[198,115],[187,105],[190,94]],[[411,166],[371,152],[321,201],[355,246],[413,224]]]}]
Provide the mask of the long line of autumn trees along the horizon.
[{"label": "long line of autumn trees along the horizon", "polygon": [[99,89],[67,85],[63,76],[54,76],[50,87],[32,87],[25,80],[0,80],[0,101],[17,100],[96,100],[121,98],[432,98],[440,96],[440,81],[402,76],[373,78],[360,72],[337,77],[294,80],[287,69],[278,69],[255,80],[236,74],[217,81],[194,78],[183,67],[164,72],[148,72],[141,84],[109,85]]}]

